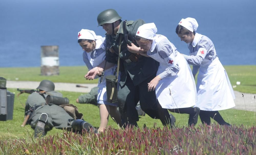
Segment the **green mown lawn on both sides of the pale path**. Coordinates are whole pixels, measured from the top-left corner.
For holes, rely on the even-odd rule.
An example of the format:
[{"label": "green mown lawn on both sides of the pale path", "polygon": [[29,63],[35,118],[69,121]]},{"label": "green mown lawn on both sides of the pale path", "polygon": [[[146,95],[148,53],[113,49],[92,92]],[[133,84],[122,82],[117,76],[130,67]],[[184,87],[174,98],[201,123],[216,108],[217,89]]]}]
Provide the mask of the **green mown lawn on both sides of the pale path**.
[{"label": "green mown lawn on both sides of the pale path", "polygon": [[[241,92],[256,93],[256,66],[224,66],[229,75],[232,85],[235,85],[236,81],[240,81],[241,85],[234,88]],[[43,79],[49,79],[53,82],[71,82],[71,83],[97,83],[97,80],[85,80],[84,74],[88,69],[84,66],[77,67],[60,67],[59,76],[41,76],[39,67],[31,68],[0,68],[0,77],[4,77],[7,80],[15,80],[18,78],[20,81],[41,81]],[[18,91],[16,89],[8,88],[10,92],[15,93],[13,120],[0,121],[0,139],[16,139],[22,138],[29,135],[33,135],[34,130],[31,129],[30,125],[20,127],[24,120],[24,107],[26,99],[29,94],[22,94],[17,97]],[[60,91],[64,97],[69,98],[70,103],[78,107],[79,112],[83,113],[84,119],[90,122],[93,126],[98,127],[100,124],[99,109],[97,106],[90,104],[77,104],[76,98],[82,93],[78,92],[67,92]],[[21,103],[23,104],[21,104]],[[243,111],[243,110],[221,110],[223,118],[233,124],[251,127],[256,125],[256,116],[254,112]],[[186,114],[172,113],[176,117],[176,126],[183,127],[187,125],[188,116]],[[159,120],[150,118],[149,116],[142,116],[138,122],[139,127],[142,127],[144,123],[147,127],[153,127],[154,123],[159,127],[163,127]],[[200,124],[200,119],[198,124]],[[198,125],[197,124],[197,125]],[[113,128],[118,128],[116,123],[110,119],[109,124]],[[62,130],[52,129],[47,135],[54,135],[56,133],[62,133]]]}]

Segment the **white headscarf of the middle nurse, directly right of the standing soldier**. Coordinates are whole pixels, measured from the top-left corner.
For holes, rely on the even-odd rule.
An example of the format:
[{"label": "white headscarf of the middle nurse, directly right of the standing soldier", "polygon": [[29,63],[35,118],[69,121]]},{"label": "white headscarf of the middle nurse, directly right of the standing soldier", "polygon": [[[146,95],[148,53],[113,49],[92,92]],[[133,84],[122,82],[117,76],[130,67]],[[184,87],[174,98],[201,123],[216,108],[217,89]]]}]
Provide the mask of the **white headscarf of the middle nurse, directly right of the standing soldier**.
[{"label": "white headscarf of the middle nurse, directly right of the standing soldier", "polygon": [[147,23],[141,25],[136,33],[136,36],[140,36],[149,40],[153,40],[156,36],[157,28],[154,23]]}]

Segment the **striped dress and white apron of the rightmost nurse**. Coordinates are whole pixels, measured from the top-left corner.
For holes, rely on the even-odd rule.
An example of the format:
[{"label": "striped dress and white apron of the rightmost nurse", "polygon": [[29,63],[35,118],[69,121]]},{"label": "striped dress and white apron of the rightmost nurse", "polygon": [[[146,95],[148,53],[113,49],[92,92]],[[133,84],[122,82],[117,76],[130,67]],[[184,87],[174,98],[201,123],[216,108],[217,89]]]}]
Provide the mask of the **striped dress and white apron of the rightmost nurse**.
[{"label": "striped dress and white apron of the rightmost nurse", "polygon": [[192,43],[188,44],[189,55],[183,55],[188,64],[193,65],[192,73],[197,74],[196,107],[200,110],[217,111],[235,106],[233,88],[226,70],[219,61],[212,41],[196,33]]}]

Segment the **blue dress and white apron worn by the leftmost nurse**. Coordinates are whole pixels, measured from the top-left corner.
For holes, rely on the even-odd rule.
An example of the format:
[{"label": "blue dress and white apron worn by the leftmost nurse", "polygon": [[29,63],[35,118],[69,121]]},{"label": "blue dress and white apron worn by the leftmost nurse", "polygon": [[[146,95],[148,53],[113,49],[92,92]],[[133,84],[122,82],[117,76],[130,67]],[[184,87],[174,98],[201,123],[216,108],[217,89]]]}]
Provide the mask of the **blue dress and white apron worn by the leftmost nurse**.
[{"label": "blue dress and white apron worn by the leftmost nurse", "polygon": [[[105,52],[103,52],[101,55],[99,55],[98,57],[96,57],[95,59],[91,58],[91,52],[87,53],[88,59],[90,60],[90,63],[92,65],[92,67],[96,67],[99,64],[102,63],[102,61],[104,61],[105,59]],[[111,105],[111,106],[117,106],[117,103],[109,103],[107,102],[107,93],[106,93],[106,76],[108,75],[113,75],[114,71],[115,71],[116,65],[114,67],[111,67],[107,70],[105,70],[104,76],[102,78],[102,83],[100,83],[100,78],[98,81],[98,97],[97,97],[97,102],[99,104],[106,104],[106,105]]]}]

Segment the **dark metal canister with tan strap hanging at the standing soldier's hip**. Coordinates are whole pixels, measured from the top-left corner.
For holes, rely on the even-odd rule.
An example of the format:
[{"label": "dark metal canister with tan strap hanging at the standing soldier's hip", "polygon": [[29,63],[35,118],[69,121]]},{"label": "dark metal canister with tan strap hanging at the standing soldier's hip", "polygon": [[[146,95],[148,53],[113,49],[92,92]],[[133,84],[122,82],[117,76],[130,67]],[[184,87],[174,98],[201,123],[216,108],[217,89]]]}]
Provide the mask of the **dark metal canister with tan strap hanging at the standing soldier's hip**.
[{"label": "dark metal canister with tan strap hanging at the standing soldier's hip", "polygon": [[108,102],[117,102],[117,80],[114,75],[106,76],[106,92]]}]

